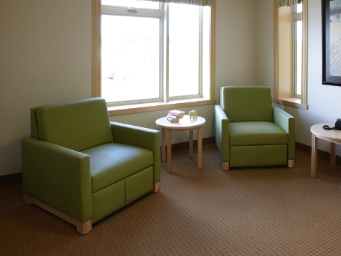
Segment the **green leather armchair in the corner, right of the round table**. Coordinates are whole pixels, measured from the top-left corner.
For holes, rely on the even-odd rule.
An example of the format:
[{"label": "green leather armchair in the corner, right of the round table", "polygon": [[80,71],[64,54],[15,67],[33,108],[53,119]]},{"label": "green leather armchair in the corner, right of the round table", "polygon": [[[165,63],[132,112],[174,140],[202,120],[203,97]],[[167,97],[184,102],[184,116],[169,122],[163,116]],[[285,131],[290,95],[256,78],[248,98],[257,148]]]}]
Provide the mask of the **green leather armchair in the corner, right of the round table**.
[{"label": "green leather armchair in the corner, right of the round table", "polygon": [[223,170],[295,165],[295,119],[272,105],[270,87],[222,87],[215,138]]}]

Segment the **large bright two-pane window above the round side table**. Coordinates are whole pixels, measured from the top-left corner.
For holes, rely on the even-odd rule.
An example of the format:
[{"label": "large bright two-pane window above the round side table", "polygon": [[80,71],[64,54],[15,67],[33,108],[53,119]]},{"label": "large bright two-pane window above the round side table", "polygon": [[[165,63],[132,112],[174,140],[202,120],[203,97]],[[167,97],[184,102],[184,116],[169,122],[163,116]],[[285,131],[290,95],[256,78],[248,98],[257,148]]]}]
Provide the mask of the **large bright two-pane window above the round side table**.
[{"label": "large bright two-pane window above the round side table", "polygon": [[94,0],[94,9],[94,97],[119,108],[215,104],[211,7]]}]

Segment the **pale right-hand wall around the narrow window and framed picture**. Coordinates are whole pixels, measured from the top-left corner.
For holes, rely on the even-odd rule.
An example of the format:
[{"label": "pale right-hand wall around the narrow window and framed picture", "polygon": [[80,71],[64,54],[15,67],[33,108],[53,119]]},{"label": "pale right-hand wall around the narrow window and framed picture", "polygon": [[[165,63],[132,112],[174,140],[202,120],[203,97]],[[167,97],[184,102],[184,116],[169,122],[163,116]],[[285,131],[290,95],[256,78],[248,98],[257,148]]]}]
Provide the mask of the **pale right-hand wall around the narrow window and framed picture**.
[{"label": "pale right-hand wall around the narrow window and framed picture", "polygon": [[[258,8],[258,41],[259,56],[273,55],[274,51],[274,1],[259,0]],[[267,18],[264,18],[267,17]],[[321,1],[308,1],[308,110],[293,107],[282,107],[295,117],[296,142],[311,146],[310,127],[323,122],[334,123],[341,117],[341,87],[322,85],[322,19]],[[266,36],[267,40],[264,40]],[[270,53],[271,51],[271,53]],[[258,79],[265,85],[273,87],[273,58],[258,58]],[[318,149],[330,151],[330,143],[318,141]],[[337,145],[337,155],[341,148]]]}]

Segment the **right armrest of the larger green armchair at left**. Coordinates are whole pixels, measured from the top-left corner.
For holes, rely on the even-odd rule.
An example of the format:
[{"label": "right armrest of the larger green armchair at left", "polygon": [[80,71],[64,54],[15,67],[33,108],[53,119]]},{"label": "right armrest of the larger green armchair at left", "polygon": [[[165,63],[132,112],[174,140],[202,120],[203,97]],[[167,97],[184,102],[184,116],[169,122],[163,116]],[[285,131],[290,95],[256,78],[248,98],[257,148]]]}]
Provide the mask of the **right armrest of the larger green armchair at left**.
[{"label": "right armrest of the larger green armchair at left", "polygon": [[130,124],[111,122],[114,142],[153,151],[153,183],[161,180],[161,132]]}]

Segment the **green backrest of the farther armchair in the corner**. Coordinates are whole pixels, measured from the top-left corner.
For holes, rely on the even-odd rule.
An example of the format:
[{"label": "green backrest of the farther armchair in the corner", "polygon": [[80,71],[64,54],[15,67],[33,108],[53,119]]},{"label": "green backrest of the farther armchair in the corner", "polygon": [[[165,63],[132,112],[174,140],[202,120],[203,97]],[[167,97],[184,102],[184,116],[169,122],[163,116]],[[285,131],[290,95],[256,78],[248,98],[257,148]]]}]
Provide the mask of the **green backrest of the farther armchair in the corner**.
[{"label": "green backrest of the farther armchair in the corner", "polygon": [[220,97],[220,105],[229,122],[273,122],[274,120],[270,87],[221,87]]}]

